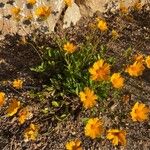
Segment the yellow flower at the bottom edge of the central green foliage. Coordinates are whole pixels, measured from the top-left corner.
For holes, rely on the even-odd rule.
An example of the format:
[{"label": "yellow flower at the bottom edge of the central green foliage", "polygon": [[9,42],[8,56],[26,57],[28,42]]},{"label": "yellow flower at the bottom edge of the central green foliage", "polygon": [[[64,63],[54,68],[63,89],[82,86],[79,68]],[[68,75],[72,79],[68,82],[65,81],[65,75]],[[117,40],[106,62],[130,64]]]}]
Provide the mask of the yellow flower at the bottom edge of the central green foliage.
[{"label": "yellow flower at the bottom edge of the central green foliage", "polygon": [[88,87],[84,88],[84,91],[80,92],[79,96],[86,109],[91,108],[96,104],[97,96],[94,94],[94,91],[90,90]]}]

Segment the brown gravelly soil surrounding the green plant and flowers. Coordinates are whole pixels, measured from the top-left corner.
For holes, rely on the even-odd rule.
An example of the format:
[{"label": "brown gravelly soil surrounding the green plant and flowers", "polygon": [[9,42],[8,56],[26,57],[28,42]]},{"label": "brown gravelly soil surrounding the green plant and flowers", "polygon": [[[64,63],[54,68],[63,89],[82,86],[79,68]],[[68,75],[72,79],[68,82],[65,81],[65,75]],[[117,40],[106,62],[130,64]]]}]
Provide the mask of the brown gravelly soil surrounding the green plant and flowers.
[{"label": "brown gravelly soil surrounding the green plant and flowers", "polygon": [[[77,3],[77,8],[80,8],[80,10],[84,9],[85,5],[83,5],[82,2],[87,3],[87,1],[76,0],[75,2]],[[51,2],[54,1],[52,0]],[[61,0],[58,0],[57,2],[60,4]],[[58,6],[58,3],[54,6]],[[91,24],[95,18],[103,16],[106,18],[106,21],[111,26],[111,28],[116,28],[119,31],[120,36],[116,40],[109,40],[110,35],[105,35],[100,39],[102,44],[105,44],[108,47],[109,51],[107,52],[107,55],[116,57],[116,65],[118,67],[123,62],[122,54],[129,47],[132,47],[133,53],[141,52],[143,54],[150,55],[149,7],[147,7],[148,10],[143,9],[139,12],[133,12],[129,17],[120,17],[118,12],[106,12],[104,14],[95,13],[94,16],[91,17],[91,15],[96,12],[97,9],[101,9],[101,7],[98,7],[98,4],[101,6],[100,1],[95,5],[95,7],[92,2],[91,4],[89,3],[88,5],[91,5],[91,14],[89,15],[89,13],[87,13],[89,10],[83,10],[82,12],[87,11],[84,12],[84,17],[80,19],[80,21],[75,26],[65,30],[62,29],[64,24],[58,19],[61,16],[59,14],[56,22],[54,22],[52,25],[52,29],[55,28],[56,30],[54,34],[57,34],[60,37],[68,35],[70,39],[73,39],[76,42],[80,42],[83,40],[82,37],[84,37],[86,33],[89,32],[88,25]],[[61,7],[63,8],[64,6],[60,5],[58,9]],[[62,9],[60,11],[62,11]],[[81,16],[83,15],[81,12],[79,14]],[[89,16],[87,17],[87,15]],[[131,16],[132,18],[130,18]],[[65,19],[65,17],[63,19]],[[10,23],[10,21],[8,22]],[[55,26],[56,24],[57,26]],[[10,30],[12,30],[11,27],[13,25],[6,25],[7,28],[5,28],[5,25],[3,27],[3,32],[9,33]],[[53,34],[49,35],[49,39],[52,37]],[[70,116],[68,116],[68,118],[66,118],[65,121],[58,121],[54,119],[53,116],[44,115],[41,111],[39,111],[44,109],[47,104],[41,104],[38,99],[31,99],[29,97],[28,91],[30,91],[32,88],[35,88],[37,91],[41,90],[41,84],[43,83],[41,76],[31,72],[30,70],[30,67],[37,65],[41,60],[32,45],[19,44],[18,39],[20,39],[19,35],[7,35],[5,36],[5,41],[1,41],[0,90],[9,95],[6,100],[8,102],[12,97],[16,97],[19,98],[22,102],[27,102],[29,105],[33,106],[32,109],[34,112],[34,117],[27,121],[24,125],[19,126],[16,122],[17,117],[7,118],[5,117],[6,108],[0,109],[0,149],[64,150],[66,141],[74,138],[81,139],[85,150],[150,149],[150,122],[133,123],[129,117],[131,106],[135,103],[135,100],[139,100],[147,105],[150,105],[150,70],[146,70],[143,76],[139,78],[129,78],[127,80],[123,93],[123,95],[127,94],[130,97],[127,102],[124,102],[123,98],[112,99],[109,97],[106,101],[102,101],[99,104],[102,108],[104,108],[104,110],[97,110],[98,113],[96,116],[103,118],[106,129],[109,129],[110,127],[121,126],[127,131],[127,146],[113,147],[112,144],[104,137],[102,137],[100,140],[98,139],[93,141],[84,136],[84,123],[82,119],[85,116],[89,117],[90,115],[88,111],[81,111],[81,106],[78,104],[78,100],[76,99],[74,103],[76,109]],[[43,39],[44,37],[41,36],[41,39],[37,38],[36,41],[38,44],[41,44],[43,41],[45,42]],[[52,44],[49,39],[47,39],[46,44]],[[33,45],[34,44],[35,43],[33,42]],[[20,77],[25,80],[24,88],[20,91],[14,90],[11,88],[11,86],[6,86],[3,82],[12,81],[13,79]],[[97,109],[99,109],[99,107]],[[61,111],[58,111],[58,113],[61,113]],[[22,134],[24,129],[31,121],[39,123],[41,130],[36,142],[26,143],[23,140]]]}]

